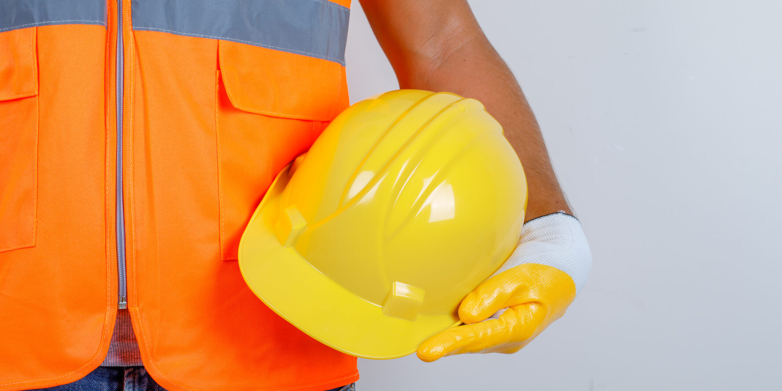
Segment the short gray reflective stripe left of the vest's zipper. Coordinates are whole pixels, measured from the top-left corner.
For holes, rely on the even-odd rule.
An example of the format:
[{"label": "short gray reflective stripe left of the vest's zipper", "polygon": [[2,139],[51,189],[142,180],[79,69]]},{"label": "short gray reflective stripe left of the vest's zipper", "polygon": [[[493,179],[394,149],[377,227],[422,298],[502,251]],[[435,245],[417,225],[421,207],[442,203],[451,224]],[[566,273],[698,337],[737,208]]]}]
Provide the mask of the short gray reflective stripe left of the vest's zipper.
[{"label": "short gray reflective stripe left of the vest's zipper", "polygon": [[106,26],[106,0],[0,0],[0,32],[49,24]]}]

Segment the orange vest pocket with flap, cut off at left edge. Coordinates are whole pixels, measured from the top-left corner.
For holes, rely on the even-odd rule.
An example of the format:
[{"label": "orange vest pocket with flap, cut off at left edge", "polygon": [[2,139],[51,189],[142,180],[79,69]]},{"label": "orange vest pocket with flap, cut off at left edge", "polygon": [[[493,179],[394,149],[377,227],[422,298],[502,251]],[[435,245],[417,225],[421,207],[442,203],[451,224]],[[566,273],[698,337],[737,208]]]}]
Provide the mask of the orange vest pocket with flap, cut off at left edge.
[{"label": "orange vest pocket with flap, cut off at left edge", "polygon": [[35,246],[36,27],[0,33],[0,252]]}]

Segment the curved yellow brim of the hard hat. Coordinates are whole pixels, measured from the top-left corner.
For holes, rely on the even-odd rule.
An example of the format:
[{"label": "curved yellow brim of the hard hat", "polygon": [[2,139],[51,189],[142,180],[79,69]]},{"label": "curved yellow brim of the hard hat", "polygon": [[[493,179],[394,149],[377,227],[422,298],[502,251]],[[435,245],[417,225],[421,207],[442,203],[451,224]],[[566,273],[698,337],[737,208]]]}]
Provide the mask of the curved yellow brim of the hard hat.
[{"label": "curved yellow brim of the hard hat", "polygon": [[279,201],[289,181],[285,167],[261,200],[239,243],[239,269],[249,289],[292,325],[335,350],[390,359],[413,353],[430,336],[459,325],[456,314],[389,317],[312,267],[274,234]]}]

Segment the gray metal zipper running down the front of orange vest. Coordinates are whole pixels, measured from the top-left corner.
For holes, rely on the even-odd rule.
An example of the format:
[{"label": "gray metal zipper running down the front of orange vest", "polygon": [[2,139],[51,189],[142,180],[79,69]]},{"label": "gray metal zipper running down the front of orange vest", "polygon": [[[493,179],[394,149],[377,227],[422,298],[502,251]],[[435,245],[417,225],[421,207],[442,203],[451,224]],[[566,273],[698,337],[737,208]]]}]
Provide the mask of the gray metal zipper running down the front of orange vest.
[{"label": "gray metal zipper running down the front of orange vest", "polygon": [[122,2],[117,0],[117,63],[115,81],[117,84],[117,276],[119,278],[118,306],[120,310],[127,308],[127,277],[125,274],[125,208],[123,196],[122,170],[122,130],[124,103],[124,73],[125,56],[122,33]]}]

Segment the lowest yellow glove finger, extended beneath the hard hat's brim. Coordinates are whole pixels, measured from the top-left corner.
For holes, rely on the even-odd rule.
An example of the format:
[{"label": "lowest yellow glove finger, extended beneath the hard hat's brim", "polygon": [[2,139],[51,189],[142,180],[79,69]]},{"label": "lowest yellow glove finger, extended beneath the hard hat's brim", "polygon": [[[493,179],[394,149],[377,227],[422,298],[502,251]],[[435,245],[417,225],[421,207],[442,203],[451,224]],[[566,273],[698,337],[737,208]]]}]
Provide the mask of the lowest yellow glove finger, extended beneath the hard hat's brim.
[{"label": "lowest yellow glove finger, extended beneath the hard hat's brim", "polygon": [[[469,353],[486,340],[501,342],[507,338],[505,321],[492,319],[475,325],[461,325],[449,328],[427,339],[418,346],[418,358],[421,361],[432,362],[451,354]],[[483,340],[483,343],[479,341]]]}]

